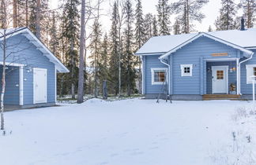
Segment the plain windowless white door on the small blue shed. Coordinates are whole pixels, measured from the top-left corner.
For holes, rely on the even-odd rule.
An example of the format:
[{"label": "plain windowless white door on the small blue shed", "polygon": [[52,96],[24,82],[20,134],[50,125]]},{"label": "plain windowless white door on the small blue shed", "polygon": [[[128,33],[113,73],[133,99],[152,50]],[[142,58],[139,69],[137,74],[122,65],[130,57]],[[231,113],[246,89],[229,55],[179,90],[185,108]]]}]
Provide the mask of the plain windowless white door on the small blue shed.
[{"label": "plain windowless white door on the small blue shed", "polygon": [[34,104],[47,102],[47,69],[34,68]]}]

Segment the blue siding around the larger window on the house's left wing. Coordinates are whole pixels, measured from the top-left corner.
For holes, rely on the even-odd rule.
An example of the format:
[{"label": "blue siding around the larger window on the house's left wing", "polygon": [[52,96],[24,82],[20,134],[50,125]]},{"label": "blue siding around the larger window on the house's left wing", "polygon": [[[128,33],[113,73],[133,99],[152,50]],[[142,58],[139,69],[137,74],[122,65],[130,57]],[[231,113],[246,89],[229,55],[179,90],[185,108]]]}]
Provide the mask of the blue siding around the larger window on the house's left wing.
[{"label": "blue siding around the larger window on the house's left wing", "polygon": [[145,57],[145,94],[159,94],[161,85],[152,85],[151,68],[168,68],[167,65],[162,64],[157,55]]}]

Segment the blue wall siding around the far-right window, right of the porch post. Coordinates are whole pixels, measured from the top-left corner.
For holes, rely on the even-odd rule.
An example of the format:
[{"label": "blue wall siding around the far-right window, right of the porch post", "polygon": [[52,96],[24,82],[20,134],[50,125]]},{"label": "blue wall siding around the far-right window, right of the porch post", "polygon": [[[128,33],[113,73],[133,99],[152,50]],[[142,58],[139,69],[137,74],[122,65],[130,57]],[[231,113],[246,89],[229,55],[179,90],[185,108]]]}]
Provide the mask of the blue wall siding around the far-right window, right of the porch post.
[{"label": "blue wall siding around the far-right window, right of the porch post", "polygon": [[[254,51],[254,56],[250,61],[241,64],[241,93],[242,94],[252,94],[252,85],[247,84],[247,64],[256,64],[256,49]],[[240,61],[244,61],[245,58]]]}]

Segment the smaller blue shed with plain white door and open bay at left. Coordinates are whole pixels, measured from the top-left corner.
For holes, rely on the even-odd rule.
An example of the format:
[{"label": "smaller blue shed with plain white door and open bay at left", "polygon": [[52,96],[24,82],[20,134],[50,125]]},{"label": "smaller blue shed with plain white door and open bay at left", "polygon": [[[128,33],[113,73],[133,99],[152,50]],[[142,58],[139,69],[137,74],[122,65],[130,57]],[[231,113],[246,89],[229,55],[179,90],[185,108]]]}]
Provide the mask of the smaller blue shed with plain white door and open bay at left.
[{"label": "smaller blue shed with plain white door and open bay at left", "polygon": [[[4,39],[4,35],[6,36]],[[6,41],[6,107],[30,108],[56,103],[56,74],[69,72],[26,27],[0,29],[0,79]],[[2,89],[2,83],[1,83]]]}]

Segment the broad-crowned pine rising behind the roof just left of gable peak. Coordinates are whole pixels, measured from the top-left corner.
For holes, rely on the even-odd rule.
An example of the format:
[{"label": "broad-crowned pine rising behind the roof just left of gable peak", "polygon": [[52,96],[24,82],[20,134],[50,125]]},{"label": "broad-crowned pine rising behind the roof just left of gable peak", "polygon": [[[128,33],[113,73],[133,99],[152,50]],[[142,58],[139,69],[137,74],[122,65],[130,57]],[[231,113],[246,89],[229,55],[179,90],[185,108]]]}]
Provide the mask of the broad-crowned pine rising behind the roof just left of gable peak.
[{"label": "broad-crowned pine rising behind the roof just left of gable peak", "polygon": [[192,31],[194,20],[201,22],[205,15],[200,9],[208,2],[209,0],[179,0],[171,4],[173,12],[178,14],[176,20],[179,20],[183,33]]}]

